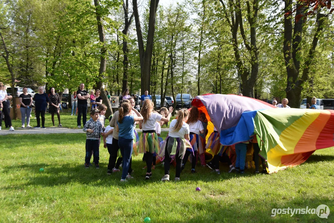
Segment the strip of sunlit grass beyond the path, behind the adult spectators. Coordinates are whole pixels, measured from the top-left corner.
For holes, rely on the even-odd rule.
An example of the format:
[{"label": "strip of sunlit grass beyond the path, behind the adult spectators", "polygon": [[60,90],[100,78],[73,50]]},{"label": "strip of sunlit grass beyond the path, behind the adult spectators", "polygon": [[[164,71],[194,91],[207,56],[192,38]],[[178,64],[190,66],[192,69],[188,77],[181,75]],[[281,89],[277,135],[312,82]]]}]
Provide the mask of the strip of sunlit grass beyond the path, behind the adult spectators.
[{"label": "strip of sunlit grass beyond the path, behind the adult spectators", "polygon": [[[76,123],[76,118],[77,116],[71,116],[71,113],[70,113],[70,109],[66,110],[64,109],[63,112],[60,111],[60,123],[62,124],[62,127],[65,127],[65,128],[77,128],[77,123]],[[107,117],[108,118],[108,117]],[[87,112],[87,120],[90,119],[90,114],[89,112]],[[171,117],[170,118],[170,121],[172,121],[173,119],[175,119],[175,116]],[[170,121],[168,122],[168,127],[169,127],[169,123]],[[57,119],[57,115],[55,114],[54,115],[54,123],[55,123],[55,126],[58,126],[58,119]],[[22,126],[22,123],[21,123],[21,120],[17,119],[17,120],[12,120],[12,125],[14,128],[21,128]],[[25,123],[26,125],[26,123]],[[32,113],[32,117],[30,118],[30,125],[32,127],[36,126],[37,125],[37,121],[36,119],[34,119],[34,114]],[[45,127],[52,127],[52,121],[51,121],[51,114],[49,113],[45,113]],[[82,128],[82,117],[81,117],[81,128]],[[166,125],[163,125],[162,128],[166,128],[167,126]],[[139,128],[139,126],[137,125],[137,128]],[[3,125],[2,125],[2,129],[5,129],[5,123],[3,122]],[[7,128],[9,129],[9,128]]]}]

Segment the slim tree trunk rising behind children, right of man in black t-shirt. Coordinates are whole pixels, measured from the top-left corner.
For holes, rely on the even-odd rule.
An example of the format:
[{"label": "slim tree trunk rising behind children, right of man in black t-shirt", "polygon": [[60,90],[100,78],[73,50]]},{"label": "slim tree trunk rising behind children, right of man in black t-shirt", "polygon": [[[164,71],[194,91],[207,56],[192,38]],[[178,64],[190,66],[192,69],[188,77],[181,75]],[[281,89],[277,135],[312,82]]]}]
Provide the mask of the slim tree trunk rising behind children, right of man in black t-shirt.
[{"label": "slim tree trunk rising behind children, right of man in black t-shirt", "polygon": [[99,37],[100,42],[102,43],[102,46],[100,48],[101,57],[100,57],[100,69],[99,69],[99,81],[96,83],[97,89],[100,89],[101,91],[101,97],[102,102],[107,106],[107,112],[106,117],[109,117],[111,114],[113,114],[113,110],[111,107],[111,104],[107,98],[106,91],[103,89],[103,80],[104,80],[104,74],[106,72],[106,65],[107,65],[107,47],[106,47],[106,37],[105,37],[105,31],[103,27],[103,20],[101,16],[101,9],[100,9],[100,0],[94,0],[95,5],[95,11],[96,11],[96,20],[98,23],[98,31],[99,31]]}]

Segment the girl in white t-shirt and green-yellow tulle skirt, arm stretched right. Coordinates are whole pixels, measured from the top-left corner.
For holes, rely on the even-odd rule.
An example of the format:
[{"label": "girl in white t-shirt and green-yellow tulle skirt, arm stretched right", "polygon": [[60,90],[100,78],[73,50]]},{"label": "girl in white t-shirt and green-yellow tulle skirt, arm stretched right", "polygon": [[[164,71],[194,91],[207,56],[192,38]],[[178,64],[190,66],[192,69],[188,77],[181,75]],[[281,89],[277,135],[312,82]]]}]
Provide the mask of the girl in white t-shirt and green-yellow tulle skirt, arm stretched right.
[{"label": "girl in white t-shirt and green-yellow tulle skirt, arm stretched right", "polygon": [[143,103],[140,113],[144,119],[139,123],[139,128],[143,129],[143,133],[139,139],[139,152],[145,152],[146,154],[147,171],[145,180],[149,180],[150,177],[152,177],[151,167],[153,162],[153,153],[157,152],[159,149],[159,139],[155,132],[155,122],[169,122],[172,111],[173,108],[170,107],[167,118],[165,118],[159,113],[153,113],[153,102],[151,100],[145,100]]}]

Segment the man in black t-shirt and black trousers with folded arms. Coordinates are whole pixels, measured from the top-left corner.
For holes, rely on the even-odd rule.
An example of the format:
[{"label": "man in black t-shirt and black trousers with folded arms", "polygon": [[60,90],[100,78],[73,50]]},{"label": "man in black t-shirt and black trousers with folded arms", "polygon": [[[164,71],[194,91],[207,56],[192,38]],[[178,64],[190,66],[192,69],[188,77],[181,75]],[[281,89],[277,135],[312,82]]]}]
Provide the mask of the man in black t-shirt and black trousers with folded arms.
[{"label": "man in black t-shirt and black trousers with folded arms", "polygon": [[76,97],[78,98],[78,117],[76,122],[78,124],[78,128],[81,128],[81,115],[82,115],[82,124],[85,126],[87,121],[87,99],[89,99],[90,95],[88,91],[84,90],[85,84],[81,83],[79,89],[76,91]]}]

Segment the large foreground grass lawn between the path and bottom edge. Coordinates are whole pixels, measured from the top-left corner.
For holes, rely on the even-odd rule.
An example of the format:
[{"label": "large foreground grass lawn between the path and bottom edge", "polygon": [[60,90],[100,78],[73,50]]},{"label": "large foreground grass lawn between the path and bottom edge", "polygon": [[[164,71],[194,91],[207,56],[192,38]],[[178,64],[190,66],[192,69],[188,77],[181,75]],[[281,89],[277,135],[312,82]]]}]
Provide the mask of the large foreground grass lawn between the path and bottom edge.
[{"label": "large foreground grass lawn between the path and bottom edge", "polygon": [[[254,170],[228,174],[225,164],[220,175],[202,166],[191,174],[188,162],[180,182],[166,183],[160,181],[162,166],[144,180],[140,154],[133,158],[134,179],[120,183],[121,173],[106,174],[109,154],[103,146],[100,169],[84,168],[84,134],[6,135],[0,140],[0,222],[144,222],[145,217],[151,222],[334,222],[333,148],[272,175],[254,175]],[[272,208],[321,204],[331,211],[328,219],[315,214],[271,217]]]}]

